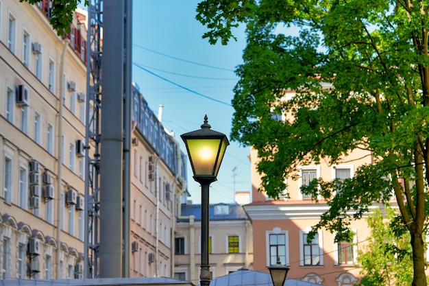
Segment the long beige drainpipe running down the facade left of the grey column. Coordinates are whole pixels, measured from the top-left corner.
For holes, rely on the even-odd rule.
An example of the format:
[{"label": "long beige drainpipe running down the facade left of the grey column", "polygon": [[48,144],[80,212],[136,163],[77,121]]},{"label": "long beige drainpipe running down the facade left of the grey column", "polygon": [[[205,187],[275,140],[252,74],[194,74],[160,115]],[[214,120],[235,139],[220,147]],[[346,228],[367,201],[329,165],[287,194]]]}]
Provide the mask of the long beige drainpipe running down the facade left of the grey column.
[{"label": "long beige drainpipe running down the facade left of the grey column", "polygon": [[66,82],[64,79],[64,64],[65,64],[65,58],[66,58],[66,51],[67,51],[67,46],[69,45],[70,40],[69,39],[65,39],[64,40],[64,47],[62,48],[62,53],[61,53],[61,62],[60,62],[60,92],[58,93],[59,95],[59,99],[58,99],[58,131],[57,131],[57,137],[58,137],[58,147],[57,147],[57,158],[58,158],[58,163],[57,163],[57,193],[58,195],[56,196],[56,208],[57,208],[57,235],[56,235],[56,240],[57,240],[57,256],[56,256],[56,276],[57,279],[59,279],[61,277],[61,270],[60,270],[60,254],[61,254],[61,220],[62,220],[62,206],[61,205],[61,171],[62,171],[62,153],[64,152],[63,148],[64,146],[62,145],[62,106],[63,106],[63,100],[65,97],[65,93],[66,93]]}]

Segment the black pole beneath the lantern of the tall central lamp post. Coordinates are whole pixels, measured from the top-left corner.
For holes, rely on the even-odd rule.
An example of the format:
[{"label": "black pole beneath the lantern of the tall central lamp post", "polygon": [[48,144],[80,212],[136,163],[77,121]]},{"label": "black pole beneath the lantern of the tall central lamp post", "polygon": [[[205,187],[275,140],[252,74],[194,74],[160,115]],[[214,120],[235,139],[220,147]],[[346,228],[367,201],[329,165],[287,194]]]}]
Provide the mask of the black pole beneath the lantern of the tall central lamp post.
[{"label": "black pole beneath the lantern of the tall central lamp post", "polygon": [[208,264],[208,224],[209,224],[209,187],[210,182],[201,183],[201,273],[199,280],[201,286],[210,285],[211,274]]}]

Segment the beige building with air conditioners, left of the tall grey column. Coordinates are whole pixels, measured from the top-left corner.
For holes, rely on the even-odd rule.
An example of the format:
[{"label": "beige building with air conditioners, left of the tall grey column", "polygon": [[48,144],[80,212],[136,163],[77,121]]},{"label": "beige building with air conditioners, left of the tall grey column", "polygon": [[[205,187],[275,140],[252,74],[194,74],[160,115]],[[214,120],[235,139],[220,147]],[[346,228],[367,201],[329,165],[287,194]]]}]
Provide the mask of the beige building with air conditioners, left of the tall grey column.
[{"label": "beige building with air conditioners, left of the tall grey column", "polygon": [[82,273],[86,26],[59,37],[50,12],[0,1],[3,279]]}]

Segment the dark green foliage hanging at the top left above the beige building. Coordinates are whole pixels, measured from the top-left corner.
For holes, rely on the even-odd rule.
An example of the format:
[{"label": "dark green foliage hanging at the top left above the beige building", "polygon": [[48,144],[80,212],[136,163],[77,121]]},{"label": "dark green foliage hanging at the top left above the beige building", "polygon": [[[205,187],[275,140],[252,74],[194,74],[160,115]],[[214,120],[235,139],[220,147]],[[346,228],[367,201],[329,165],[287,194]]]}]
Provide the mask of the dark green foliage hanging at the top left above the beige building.
[{"label": "dark green foliage hanging at the top left above the beige building", "polygon": [[[19,0],[20,2],[27,2],[29,4],[36,4],[40,0]],[[73,12],[75,12],[77,5],[82,0],[54,0],[52,1],[52,17],[49,20],[53,29],[57,30],[58,36],[62,36],[64,32],[70,32],[70,23],[73,21]],[[85,5],[88,5],[88,0],[85,0]]]}]

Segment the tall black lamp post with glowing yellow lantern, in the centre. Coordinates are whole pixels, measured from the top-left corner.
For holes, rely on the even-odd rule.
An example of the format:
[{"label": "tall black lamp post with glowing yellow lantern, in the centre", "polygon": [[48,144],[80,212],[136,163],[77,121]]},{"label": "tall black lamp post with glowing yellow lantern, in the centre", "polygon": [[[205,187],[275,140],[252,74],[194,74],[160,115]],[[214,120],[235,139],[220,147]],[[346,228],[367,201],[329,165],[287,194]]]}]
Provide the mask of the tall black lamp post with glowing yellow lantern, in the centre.
[{"label": "tall black lamp post with glowing yellow lantern, in the centre", "polygon": [[209,224],[209,187],[217,180],[226,147],[230,145],[225,134],[211,130],[207,115],[200,130],[180,135],[188,152],[193,178],[201,184],[201,286],[210,285],[211,274],[208,264],[208,224]]}]

